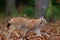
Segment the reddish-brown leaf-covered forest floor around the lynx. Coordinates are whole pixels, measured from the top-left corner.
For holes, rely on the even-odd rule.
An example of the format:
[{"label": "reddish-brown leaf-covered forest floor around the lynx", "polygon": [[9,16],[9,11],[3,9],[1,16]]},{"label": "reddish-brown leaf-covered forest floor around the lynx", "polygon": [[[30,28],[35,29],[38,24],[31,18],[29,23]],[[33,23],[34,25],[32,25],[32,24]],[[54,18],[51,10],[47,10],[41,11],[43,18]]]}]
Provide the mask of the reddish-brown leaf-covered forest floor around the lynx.
[{"label": "reddish-brown leaf-covered forest floor around the lynx", "polygon": [[[0,18],[0,40],[20,40],[14,33],[12,33],[11,37],[7,37],[7,21],[12,17],[4,17]],[[42,33],[47,33],[48,35],[36,36],[34,31],[30,31],[28,33],[27,40],[60,40],[60,20],[56,23],[50,22],[46,26],[40,27]],[[22,31],[18,32],[20,36],[22,36]]]}]

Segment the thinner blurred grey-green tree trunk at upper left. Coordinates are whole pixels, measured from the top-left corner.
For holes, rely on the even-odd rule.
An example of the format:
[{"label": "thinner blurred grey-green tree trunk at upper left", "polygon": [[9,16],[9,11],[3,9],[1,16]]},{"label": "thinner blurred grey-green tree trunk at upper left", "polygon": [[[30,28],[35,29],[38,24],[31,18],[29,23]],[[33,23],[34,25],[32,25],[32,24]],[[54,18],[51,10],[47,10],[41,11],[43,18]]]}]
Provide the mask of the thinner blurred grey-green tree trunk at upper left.
[{"label": "thinner blurred grey-green tree trunk at upper left", "polygon": [[6,13],[8,15],[14,15],[16,13],[16,0],[6,0]]}]

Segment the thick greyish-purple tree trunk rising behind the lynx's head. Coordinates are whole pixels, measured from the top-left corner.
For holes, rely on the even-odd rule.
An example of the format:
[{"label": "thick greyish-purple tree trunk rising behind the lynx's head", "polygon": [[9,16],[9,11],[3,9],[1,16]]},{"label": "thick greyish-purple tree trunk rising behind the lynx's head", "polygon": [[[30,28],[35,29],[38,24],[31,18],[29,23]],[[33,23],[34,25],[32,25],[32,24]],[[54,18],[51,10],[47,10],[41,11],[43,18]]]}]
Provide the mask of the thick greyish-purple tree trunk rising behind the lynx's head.
[{"label": "thick greyish-purple tree trunk rising behind the lynx's head", "polygon": [[50,0],[35,0],[35,16],[40,18],[45,16]]}]

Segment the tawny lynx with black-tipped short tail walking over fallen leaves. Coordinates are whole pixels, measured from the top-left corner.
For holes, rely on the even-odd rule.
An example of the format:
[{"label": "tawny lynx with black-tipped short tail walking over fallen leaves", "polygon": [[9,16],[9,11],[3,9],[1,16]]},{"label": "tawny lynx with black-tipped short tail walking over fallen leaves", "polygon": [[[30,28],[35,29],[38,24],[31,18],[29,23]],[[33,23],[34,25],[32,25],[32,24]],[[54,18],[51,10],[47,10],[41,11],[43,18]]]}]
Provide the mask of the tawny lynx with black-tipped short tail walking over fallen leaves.
[{"label": "tawny lynx with black-tipped short tail walking over fallen leaves", "polygon": [[[31,30],[35,29],[36,36],[41,36],[41,32],[39,26],[45,25],[47,21],[41,17],[39,19],[28,19],[23,17],[14,17],[10,21],[8,21],[7,27],[9,27],[12,31],[15,29],[24,30],[24,36]],[[10,30],[10,32],[12,32]]]}]

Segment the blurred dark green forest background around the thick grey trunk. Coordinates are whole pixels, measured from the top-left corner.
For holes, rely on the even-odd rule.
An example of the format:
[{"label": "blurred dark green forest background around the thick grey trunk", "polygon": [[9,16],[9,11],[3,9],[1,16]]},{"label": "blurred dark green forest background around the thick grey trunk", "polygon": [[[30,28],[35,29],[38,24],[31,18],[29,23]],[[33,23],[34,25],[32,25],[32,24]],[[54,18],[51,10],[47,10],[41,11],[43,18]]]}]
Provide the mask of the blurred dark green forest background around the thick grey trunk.
[{"label": "blurred dark green forest background around the thick grey trunk", "polygon": [[[35,4],[38,2],[36,0],[0,0],[0,18],[6,16],[35,18],[35,15],[38,14],[35,14],[35,10],[37,10],[37,8],[35,9],[35,6],[37,6]],[[40,6],[42,4],[45,3],[42,2]],[[48,21],[60,19],[60,0],[49,1],[45,17]]]}]

